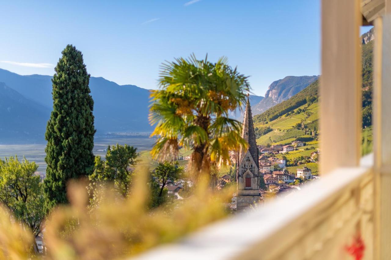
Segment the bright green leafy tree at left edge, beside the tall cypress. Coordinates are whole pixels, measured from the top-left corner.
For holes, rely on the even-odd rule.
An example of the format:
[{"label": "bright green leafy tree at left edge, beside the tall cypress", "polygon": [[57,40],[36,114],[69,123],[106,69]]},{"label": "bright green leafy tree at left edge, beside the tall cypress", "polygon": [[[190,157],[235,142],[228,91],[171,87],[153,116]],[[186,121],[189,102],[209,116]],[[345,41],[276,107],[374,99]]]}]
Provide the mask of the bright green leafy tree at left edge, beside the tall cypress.
[{"label": "bright green leafy tree at left edge, beside the tall cypress", "polygon": [[35,162],[17,157],[0,160],[0,201],[9,208],[23,226],[31,229],[34,236],[41,232],[45,217],[42,183],[35,174]]}]

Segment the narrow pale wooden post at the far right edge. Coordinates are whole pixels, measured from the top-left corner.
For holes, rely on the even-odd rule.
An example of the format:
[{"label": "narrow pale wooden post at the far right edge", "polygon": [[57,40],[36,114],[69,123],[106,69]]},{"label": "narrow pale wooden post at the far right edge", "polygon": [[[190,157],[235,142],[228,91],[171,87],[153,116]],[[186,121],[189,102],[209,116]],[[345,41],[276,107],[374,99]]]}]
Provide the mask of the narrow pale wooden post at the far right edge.
[{"label": "narrow pale wooden post at the far right edge", "polygon": [[391,259],[391,1],[375,20],[373,150],[375,155],[375,255]]}]

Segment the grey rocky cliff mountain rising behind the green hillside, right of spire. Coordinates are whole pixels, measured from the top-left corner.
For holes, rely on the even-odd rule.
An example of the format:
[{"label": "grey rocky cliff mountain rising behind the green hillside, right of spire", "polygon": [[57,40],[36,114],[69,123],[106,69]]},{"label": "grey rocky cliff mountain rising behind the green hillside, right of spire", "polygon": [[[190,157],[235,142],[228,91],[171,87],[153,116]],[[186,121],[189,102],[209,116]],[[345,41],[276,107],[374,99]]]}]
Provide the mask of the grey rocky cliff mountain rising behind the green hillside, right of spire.
[{"label": "grey rocky cliff mountain rising behind the green hillside, right of spire", "polygon": [[287,76],[283,79],[274,81],[266,91],[265,98],[251,107],[253,115],[261,114],[274,105],[291,98],[317,80],[318,77],[319,76]]}]

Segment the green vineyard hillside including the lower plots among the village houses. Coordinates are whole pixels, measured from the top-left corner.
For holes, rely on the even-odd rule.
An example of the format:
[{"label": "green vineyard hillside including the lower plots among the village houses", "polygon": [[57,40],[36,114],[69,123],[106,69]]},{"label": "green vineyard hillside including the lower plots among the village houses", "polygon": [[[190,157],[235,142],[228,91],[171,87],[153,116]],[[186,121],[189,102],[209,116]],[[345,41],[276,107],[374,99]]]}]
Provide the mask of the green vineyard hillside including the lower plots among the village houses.
[{"label": "green vineyard hillside including the lower plots among the village houses", "polygon": [[[373,42],[362,46],[362,154],[369,153],[372,145],[372,71]],[[313,151],[317,151],[319,143],[319,80],[300,91],[289,100],[253,117],[256,141],[258,145],[291,144],[300,140],[307,145],[285,154],[288,165],[296,165],[298,160],[305,160],[307,167],[317,173],[317,163],[308,162]],[[288,167],[295,172],[301,166]]]}]

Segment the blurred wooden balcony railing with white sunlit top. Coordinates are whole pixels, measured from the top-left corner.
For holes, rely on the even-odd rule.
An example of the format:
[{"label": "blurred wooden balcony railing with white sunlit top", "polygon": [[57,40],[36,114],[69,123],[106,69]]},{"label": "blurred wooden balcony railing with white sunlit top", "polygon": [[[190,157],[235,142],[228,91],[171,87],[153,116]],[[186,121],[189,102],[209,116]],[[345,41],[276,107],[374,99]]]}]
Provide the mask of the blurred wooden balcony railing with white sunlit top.
[{"label": "blurred wooden balcony railing with white sunlit top", "polygon": [[358,235],[373,255],[373,155],[287,196],[208,226],[138,259],[352,259]]}]

